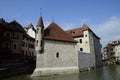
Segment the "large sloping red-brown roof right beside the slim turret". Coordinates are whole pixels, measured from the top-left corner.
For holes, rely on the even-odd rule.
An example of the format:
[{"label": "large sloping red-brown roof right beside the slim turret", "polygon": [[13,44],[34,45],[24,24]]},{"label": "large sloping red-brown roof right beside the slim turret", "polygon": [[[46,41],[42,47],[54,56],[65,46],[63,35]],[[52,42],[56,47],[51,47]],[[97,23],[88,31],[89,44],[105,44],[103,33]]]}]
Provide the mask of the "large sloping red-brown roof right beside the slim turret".
[{"label": "large sloping red-brown roof right beside the slim turret", "polygon": [[65,41],[65,42],[74,42],[74,43],[77,42],[54,22],[52,22],[44,30],[44,39],[58,40],[58,41]]}]

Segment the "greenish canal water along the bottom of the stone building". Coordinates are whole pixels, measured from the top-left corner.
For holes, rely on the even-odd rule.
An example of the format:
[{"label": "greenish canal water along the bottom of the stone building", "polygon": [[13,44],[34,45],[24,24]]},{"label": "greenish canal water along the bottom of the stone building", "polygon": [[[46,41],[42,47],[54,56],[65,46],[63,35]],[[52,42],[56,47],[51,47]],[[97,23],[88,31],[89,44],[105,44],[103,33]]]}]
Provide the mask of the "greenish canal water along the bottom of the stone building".
[{"label": "greenish canal water along the bottom of the stone building", "polygon": [[120,65],[108,65],[78,74],[30,77],[30,74],[9,77],[3,80],[120,80]]}]

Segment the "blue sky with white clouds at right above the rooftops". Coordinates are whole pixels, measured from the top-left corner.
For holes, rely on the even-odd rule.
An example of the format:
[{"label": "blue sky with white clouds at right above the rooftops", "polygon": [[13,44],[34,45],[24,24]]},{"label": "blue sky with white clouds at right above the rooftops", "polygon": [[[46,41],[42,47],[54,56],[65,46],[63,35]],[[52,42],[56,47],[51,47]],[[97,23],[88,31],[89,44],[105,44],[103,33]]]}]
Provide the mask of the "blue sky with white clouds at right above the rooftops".
[{"label": "blue sky with white clouds at right above the rooftops", "polygon": [[[41,11],[42,8],[42,11]],[[62,29],[87,24],[107,42],[120,39],[120,0],[1,0],[0,18],[16,20],[23,27],[37,25],[42,15],[45,26],[53,20]]]}]

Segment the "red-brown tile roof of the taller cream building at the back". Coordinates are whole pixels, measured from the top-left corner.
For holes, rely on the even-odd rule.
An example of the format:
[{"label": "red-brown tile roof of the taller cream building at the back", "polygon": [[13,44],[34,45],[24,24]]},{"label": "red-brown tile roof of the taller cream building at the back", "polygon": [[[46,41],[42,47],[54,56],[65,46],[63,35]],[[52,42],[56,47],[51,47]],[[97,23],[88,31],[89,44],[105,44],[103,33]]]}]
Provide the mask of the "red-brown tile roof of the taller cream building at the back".
[{"label": "red-brown tile roof of the taller cream building at the back", "polygon": [[[93,33],[93,31],[86,24],[83,24],[83,26],[81,28],[67,30],[66,33],[71,35],[73,38],[82,37],[84,35],[83,31],[85,31],[85,30],[90,30]],[[98,39],[100,39],[95,33],[93,33],[93,35],[95,37],[97,37]]]}]

